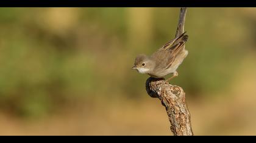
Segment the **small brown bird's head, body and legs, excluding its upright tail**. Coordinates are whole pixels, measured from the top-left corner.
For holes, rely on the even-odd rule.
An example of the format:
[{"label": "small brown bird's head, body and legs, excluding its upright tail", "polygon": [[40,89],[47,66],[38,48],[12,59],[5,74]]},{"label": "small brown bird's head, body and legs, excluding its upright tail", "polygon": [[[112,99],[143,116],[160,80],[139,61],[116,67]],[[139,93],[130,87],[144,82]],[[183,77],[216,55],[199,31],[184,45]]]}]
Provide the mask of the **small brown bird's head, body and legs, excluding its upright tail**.
[{"label": "small brown bird's head, body and legs, excluding its upright tail", "polygon": [[151,56],[138,55],[132,68],[153,78],[163,78],[173,73],[172,77],[164,83],[178,76],[176,70],[188,55],[188,51],[185,50],[185,42],[188,40],[188,35],[185,35],[185,33],[163,45]]}]

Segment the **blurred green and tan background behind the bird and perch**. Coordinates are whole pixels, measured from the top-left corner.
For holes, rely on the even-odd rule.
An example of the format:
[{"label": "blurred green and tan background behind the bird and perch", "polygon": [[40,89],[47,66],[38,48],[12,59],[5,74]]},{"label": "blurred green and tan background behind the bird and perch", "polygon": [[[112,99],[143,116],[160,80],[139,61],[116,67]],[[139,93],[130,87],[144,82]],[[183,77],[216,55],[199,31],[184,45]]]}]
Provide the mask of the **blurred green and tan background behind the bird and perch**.
[{"label": "blurred green and tan background behind the bird and perch", "polygon": [[[180,8],[0,8],[0,135],[172,135],[132,70],[174,38]],[[188,8],[171,84],[194,135],[256,135],[256,8]]]}]

